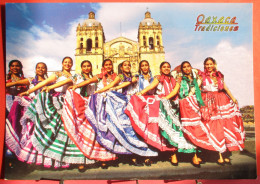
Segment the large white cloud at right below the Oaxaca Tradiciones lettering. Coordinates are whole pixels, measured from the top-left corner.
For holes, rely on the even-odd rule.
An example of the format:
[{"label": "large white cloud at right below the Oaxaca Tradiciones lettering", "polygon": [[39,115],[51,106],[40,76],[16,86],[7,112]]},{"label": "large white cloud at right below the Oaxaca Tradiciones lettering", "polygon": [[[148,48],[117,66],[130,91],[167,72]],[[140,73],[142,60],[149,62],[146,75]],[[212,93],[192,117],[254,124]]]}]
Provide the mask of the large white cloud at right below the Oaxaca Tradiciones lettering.
[{"label": "large white cloud at right below the Oaxaca Tradiciones lettering", "polygon": [[224,81],[240,107],[254,104],[253,53],[250,47],[234,46],[228,40],[222,40],[208,49],[194,48],[192,64],[194,68],[203,69],[206,57],[217,61],[218,70],[224,74]]}]

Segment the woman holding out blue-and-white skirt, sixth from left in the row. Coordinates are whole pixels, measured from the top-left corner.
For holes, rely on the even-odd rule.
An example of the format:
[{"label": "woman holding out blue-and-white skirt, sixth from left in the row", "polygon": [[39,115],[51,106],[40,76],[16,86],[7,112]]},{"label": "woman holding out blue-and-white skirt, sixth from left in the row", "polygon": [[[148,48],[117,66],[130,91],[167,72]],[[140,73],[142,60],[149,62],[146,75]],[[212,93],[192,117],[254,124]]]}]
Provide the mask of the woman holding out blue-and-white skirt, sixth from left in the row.
[{"label": "woman holding out blue-and-white skirt, sixth from left in the row", "polygon": [[[96,93],[105,92],[121,82],[132,81],[130,62],[124,61],[121,64],[120,69],[122,73],[120,72],[120,74],[115,78],[113,82],[98,90]],[[131,90],[131,86],[124,86],[123,93],[131,94]],[[114,141],[117,142],[118,145],[120,145],[121,150],[118,149],[116,146],[113,147],[113,145],[106,145],[107,148],[118,154],[134,153],[140,156],[157,156],[156,152],[150,150],[144,142],[140,141],[137,138],[131,127],[131,122],[129,121],[128,116],[124,113],[124,109],[128,103],[128,96],[116,91],[107,92],[105,93],[105,95],[106,97],[104,98],[103,94],[96,94],[96,97],[100,98],[100,101],[103,105],[103,108],[99,111],[99,114],[106,114],[106,117],[105,119],[96,122],[95,126],[98,132],[101,132],[103,128],[106,127],[106,129],[113,134]],[[91,100],[93,100],[92,102],[94,102],[93,97],[91,98]],[[99,100],[97,100],[96,102],[99,102]],[[96,107],[98,107],[98,105]],[[90,105],[89,111],[94,112],[94,108],[95,107]],[[90,120],[93,119],[93,116],[91,117],[87,114],[89,113],[86,113],[86,116],[88,116]],[[101,139],[105,141],[106,137],[102,137]],[[135,159],[132,161],[133,164],[139,165],[137,164]]]}]

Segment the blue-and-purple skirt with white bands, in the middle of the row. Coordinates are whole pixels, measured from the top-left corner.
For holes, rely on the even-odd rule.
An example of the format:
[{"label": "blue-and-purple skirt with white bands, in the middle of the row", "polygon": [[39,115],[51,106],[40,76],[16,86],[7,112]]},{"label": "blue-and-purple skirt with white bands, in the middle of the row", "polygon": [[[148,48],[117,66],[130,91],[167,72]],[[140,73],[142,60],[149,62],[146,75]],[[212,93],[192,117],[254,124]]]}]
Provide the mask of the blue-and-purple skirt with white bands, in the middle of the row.
[{"label": "blue-and-purple skirt with white bands, in the middle of the row", "polygon": [[127,103],[127,96],[115,91],[91,96],[86,116],[97,133],[97,140],[114,153],[157,156],[157,152],[136,136],[124,113]]}]

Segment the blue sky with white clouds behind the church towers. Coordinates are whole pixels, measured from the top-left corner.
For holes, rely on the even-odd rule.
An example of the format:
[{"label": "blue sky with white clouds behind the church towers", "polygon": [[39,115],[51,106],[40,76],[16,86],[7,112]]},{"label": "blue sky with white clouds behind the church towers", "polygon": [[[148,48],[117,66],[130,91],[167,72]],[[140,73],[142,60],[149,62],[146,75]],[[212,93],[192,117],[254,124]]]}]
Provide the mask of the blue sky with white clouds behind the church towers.
[{"label": "blue sky with white clouds behind the church towers", "polygon": [[[148,10],[162,25],[165,59],[172,68],[188,60],[203,70],[213,57],[239,105],[253,105],[252,3],[9,3],[6,4],[6,70],[12,59],[23,63],[26,77],[35,64],[60,70],[63,57],[75,58],[76,27],[95,12],[106,42],[119,36],[137,40]],[[236,17],[238,31],[195,31],[197,17]],[[230,19],[231,19],[230,18]],[[121,25],[121,28],[120,28]],[[121,31],[120,31],[121,30]]]}]

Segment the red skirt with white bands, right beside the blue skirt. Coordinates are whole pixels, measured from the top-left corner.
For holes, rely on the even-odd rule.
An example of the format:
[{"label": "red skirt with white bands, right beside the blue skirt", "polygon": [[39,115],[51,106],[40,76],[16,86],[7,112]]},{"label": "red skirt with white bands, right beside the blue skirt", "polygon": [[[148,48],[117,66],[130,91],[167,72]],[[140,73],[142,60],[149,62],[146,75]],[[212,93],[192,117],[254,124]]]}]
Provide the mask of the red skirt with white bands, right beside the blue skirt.
[{"label": "red skirt with white bands, right beside the blue skirt", "polygon": [[160,98],[158,96],[133,95],[125,109],[133,129],[144,141],[160,151],[176,151],[162,136],[159,127]]}]

